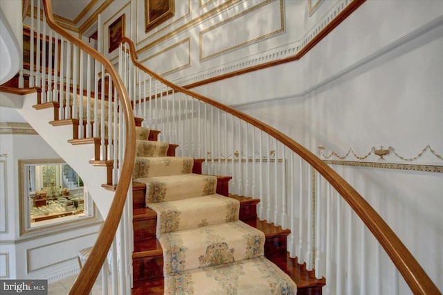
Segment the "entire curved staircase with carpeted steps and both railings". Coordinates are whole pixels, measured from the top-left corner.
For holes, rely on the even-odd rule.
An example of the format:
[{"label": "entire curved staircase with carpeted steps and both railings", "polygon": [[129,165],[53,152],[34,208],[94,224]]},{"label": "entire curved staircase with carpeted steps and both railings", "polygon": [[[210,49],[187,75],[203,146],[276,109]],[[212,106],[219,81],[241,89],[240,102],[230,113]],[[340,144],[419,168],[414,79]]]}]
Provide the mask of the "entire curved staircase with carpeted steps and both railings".
[{"label": "entire curved staircase with carpeted steps and both railings", "polygon": [[[305,147],[247,114],[152,73],[136,62],[134,44],[127,38],[122,39],[127,45],[119,49],[124,66],[117,73],[109,60],[55,24],[51,3],[43,3],[43,19],[53,29],[48,39],[54,36],[55,44],[61,40],[62,46],[68,46],[68,54],[60,58],[66,59],[67,69],[55,64],[54,71],[33,73],[31,67],[25,77],[20,71],[19,86],[23,87],[20,80],[29,80],[29,87],[41,93],[26,94],[19,112],[78,172],[106,217],[70,294],[91,290],[109,249],[113,286],[121,294],[180,294],[177,290],[193,288],[198,294],[210,292],[209,285],[224,292],[238,288],[246,294],[251,293],[248,289],[290,294],[295,288],[299,294],[321,294],[325,286],[327,293],[342,294],[345,280],[352,284],[380,276],[377,272],[360,276],[349,263],[359,257],[352,241],[336,243],[352,214],[363,221],[359,228],[372,232],[392,260],[395,274],[401,274],[413,292],[440,294],[377,212]],[[37,19],[39,5],[37,1]],[[31,21],[31,35],[33,27]],[[45,34],[43,30],[43,40]],[[93,71],[82,69],[85,61],[88,66],[95,64]],[[75,62],[79,66],[71,71],[68,67]],[[134,115],[139,119],[134,120]],[[151,128],[149,132],[142,122]],[[159,134],[164,142],[158,141]],[[174,157],[176,153],[180,157]],[[349,219],[340,214],[345,206],[342,199],[350,205]],[[336,220],[329,214],[335,212],[333,206]],[[183,219],[171,222],[177,220],[177,212]],[[287,251],[298,258],[290,258]],[[347,257],[334,255],[341,252]],[[364,267],[368,258],[360,257]],[[342,265],[345,260],[347,267]],[[245,278],[240,279],[243,273]],[[248,285],[254,278],[260,279]]]}]

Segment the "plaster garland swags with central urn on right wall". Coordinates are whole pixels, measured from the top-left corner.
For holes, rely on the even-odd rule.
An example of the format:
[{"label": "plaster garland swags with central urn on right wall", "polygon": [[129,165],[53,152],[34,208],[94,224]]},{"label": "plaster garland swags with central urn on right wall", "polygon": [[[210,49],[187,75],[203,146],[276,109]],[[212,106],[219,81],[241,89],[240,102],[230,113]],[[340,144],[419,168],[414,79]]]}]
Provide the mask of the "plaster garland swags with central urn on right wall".
[{"label": "plaster garland swags with central urn on right wall", "polygon": [[332,158],[332,157],[336,157],[336,158],[338,158],[338,159],[344,160],[344,159],[346,159],[346,158],[352,153],[352,154],[354,155],[354,157],[355,157],[356,159],[359,159],[359,160],[367,159],[371,154],[376,154],[377,156],[379,156],[379,160],[386,160],[384,157],[392,152],[392,154],[394,154],[395,157],[397,157],[398,159],[400,159],[400,160],[402,160],[402,161],[412,162],[412,161],[415,161],[415,160],[421,158],[421,157],[423,156],[423,154],[424,154],[426,151],[429,151],[429,152],[431,152],[431,154],[433,154],[437,159],[440,159],[440,160],[443,161],[443,157],[442,157],[442,155],[437,154],[437,152],[435,152],[435,150],[433,150],[433,148],[431,147],[431,145],[426,145],[426,147],[424,147],[424,149],[423,149],[421,152],[419,152],[419,153],[417,154],[417,156],[415,156],[415,157],[410,157],[410,158],[408,158],[408,157],[404,157],[404,156],[401,156],[400,154],[398,154],[398,153],[395,151],[395,148],[392,147],[392,146],[389,146],[387,149],[385,149],[385,148],[383,148],[383,145],[381,145],[379,149],[377,149],[376,147],[372,146],[371,149],[370,149],[370,151],[368,152],[368,154],[365,154],[365,155],[363,155],[363,156],[358,156],[358,155],[356,154],[356,152],[354,152],[354,150],[352,150],[352,147],[347,151],[347,153],[346,153],[344,156],[341,156],[340,154],[338,154],[338,153],[335,152],[335,151],[332,151],[332,152],[330,152],[329,154],[325,154],[325,150],[326,150],[326,146],[325,146],[325,145],[319,145],[319,146],[317,147],[317,149],[318,149],[318,155],[319,155],[319,157],[322,158],[322,159],[330,159],[330,158]]}]

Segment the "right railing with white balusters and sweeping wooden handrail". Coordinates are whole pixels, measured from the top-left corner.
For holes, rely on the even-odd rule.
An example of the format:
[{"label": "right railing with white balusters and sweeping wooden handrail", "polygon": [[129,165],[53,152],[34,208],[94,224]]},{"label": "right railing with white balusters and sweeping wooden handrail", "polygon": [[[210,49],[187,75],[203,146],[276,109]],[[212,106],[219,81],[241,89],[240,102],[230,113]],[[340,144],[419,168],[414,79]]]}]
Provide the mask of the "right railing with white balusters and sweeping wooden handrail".
[{"label": "right railing with white balusters and sweeping wooden handrail", "polygon": [[[315,268],[317,278],[325,276],[327,294],[396,294],[404,284],[398,274],[415,294],[440,294],[368,202],[305,147],[161,78],[137,62],[127,38],[118,65],[136,116],[161,130],[162,140],[179,144],[177,155],[202,157],[206,172],[233,176],[230,193],[260,198],[260,219],[291,229],[288,251]],[[393,264],[381,271],[388,256]]]}]

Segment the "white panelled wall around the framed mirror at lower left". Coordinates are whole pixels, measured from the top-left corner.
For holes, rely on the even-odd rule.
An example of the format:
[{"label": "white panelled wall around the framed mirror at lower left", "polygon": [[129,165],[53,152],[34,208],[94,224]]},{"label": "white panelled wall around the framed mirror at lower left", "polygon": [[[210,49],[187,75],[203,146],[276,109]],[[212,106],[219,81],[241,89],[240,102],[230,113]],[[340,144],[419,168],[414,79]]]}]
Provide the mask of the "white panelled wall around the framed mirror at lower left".
[{"label": "white panelled wall around the framed mirror at lower left", "polygon": [[[1,122],[23,122],[15,109],[0,107]],[[82,227],[20,235],[19,160],[58,159],[60,156],[39,135],[0,134],[0,276],[42,278],[50,282],[79,270],[77,251],[97,238],[98,220]]]}]

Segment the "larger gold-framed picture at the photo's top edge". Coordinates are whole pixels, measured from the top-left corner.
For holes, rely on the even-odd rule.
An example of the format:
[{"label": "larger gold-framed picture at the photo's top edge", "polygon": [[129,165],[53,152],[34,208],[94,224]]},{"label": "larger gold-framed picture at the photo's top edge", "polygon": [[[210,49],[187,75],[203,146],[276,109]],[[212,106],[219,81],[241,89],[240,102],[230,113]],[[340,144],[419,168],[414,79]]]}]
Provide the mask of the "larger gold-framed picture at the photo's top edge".
[{"label": "larger gold-framed picture at the photo's top edge", "polygon": [[145,0],[145,33],[174,16],[174,0]]}]

